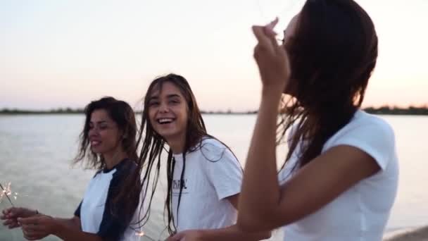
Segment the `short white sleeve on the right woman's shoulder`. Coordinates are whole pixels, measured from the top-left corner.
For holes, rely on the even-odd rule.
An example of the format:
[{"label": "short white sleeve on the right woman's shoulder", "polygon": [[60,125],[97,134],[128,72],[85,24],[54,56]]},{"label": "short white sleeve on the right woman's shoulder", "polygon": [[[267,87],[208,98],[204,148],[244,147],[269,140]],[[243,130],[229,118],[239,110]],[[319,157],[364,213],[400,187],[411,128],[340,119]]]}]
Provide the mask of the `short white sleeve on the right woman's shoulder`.
[{"label": "short white sleeve on the right woman's shoulder", "polygon": [[338,135],[328,148],[339,145],[356,147],[372,156],[382,170],[395,152],[394,130],[384,121],[358,125]]}]

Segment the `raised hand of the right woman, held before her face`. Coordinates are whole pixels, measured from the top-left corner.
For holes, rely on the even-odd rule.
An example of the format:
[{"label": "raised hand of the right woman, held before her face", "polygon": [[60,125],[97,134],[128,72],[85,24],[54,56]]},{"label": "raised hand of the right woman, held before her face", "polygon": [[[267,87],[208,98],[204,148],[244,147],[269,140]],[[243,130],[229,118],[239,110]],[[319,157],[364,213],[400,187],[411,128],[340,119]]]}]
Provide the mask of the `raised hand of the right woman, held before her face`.
[{"label": "raised hand of the right woman, held before her face", "polygon": [[284,90],[289,82],[291,68],[287,51],[283,46],[279,46],[273,28],[278,23],[275,18],[265,26],[253,26],[253,33],[257,38],[257,45],[254,48],[254,58],[260,71],[263,87],[273,87],[272,89]]}]

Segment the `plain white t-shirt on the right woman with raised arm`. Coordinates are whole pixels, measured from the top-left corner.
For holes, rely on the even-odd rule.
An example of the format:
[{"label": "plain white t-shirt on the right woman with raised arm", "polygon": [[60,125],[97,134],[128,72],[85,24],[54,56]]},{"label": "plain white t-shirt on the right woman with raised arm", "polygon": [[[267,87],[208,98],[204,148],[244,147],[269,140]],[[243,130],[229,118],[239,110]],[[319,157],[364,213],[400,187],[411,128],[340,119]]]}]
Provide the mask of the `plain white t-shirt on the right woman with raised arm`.
[{"label": "plain white t-shirt on the right woman with raised arm", "polygon": [[[285,226],[284,240],[382,240],[398,186],[394,130],[383,119],[356,111],[351,122],[325,143],[322,152],[338,145],[363,150],[373,157],[381,170],[361,180],[315,213]],[[279,180],[284,185],[294,173],[291,172],[294,163],[295,153],[279,173]]]}]

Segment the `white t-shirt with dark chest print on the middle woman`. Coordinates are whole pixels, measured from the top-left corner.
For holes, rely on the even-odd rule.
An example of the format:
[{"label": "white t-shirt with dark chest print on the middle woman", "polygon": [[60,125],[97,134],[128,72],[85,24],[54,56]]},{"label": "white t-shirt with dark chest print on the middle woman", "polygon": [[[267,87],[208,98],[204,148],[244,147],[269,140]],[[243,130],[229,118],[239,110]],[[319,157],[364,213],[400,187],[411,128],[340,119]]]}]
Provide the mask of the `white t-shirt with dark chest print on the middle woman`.
[{"label": "white t-shirt with dark chest print on the middle woman", "polygon": [[237,210],[226,197],[241,191],[242,168],[221,142],[207,138],[194,152],[186,154],[182,197],[177,218],[182,154],[174,154],[172,214],[177,232],[188,229],[215,229],[233,225]]}]

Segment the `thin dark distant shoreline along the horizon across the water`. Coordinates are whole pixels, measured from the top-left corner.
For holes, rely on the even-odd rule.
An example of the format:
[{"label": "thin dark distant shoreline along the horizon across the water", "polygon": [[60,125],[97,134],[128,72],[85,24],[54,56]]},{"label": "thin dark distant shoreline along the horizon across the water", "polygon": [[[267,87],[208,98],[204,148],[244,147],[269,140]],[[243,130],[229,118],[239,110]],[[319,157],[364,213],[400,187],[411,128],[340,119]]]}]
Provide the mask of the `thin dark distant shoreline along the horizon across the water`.
[{"label": "thin dark distant shoreline along the horizon across the water", "polygon": [[[401,115],[401,116],[428,116],[428,106],[425,107],[413,107],[398,108],[382,106],[379,108],[367,107],[364,109],[367,113],[373,113],[377,115]],[[83,109],[52,109],[49,111],[34,111],[34,110],[20,110],[20,109],[1,109],[0,115],[46,115],[46,114],[82,114]],[[136,113],[141,113],[137,111]],[[203,114],[213,115],[254,115],[257,111],[201,111]]]}]

